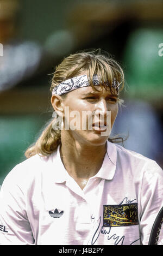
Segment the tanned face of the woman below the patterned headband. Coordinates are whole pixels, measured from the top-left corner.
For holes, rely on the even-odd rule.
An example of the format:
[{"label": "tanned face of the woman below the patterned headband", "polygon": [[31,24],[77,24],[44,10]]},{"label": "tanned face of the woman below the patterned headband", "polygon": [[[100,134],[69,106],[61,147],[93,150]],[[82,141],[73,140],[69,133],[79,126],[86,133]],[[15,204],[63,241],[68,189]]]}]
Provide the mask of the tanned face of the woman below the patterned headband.
[{"label": "tanned face of the woman below the patterned headband", "polygon": [[[108,120],[112,128],[118,113],[118,96],[116,90],[111,94],[110,90],[106,91],[104,87],[95,87],[98,91],[88,86],[67,93],[63,101],[64,109],[68,109],[68,114],[64,113],[64,124],[68,122],[70,126],[74,124],[77,127],[66,130],[72,139],[84,144],[103,145],[109,138],[109,134],[106,133]],[[86,118],[84,113],[87,113]],[[109,119],[108,113],[111,114]]]}]

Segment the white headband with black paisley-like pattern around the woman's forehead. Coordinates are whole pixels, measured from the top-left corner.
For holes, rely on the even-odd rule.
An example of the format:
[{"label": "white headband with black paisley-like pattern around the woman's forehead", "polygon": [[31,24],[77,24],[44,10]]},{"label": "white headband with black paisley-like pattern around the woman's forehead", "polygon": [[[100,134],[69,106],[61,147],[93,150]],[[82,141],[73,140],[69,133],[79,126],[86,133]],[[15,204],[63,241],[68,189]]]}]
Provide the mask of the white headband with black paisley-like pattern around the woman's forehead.
[{"label": "white headband with black paisley-like pattern around the woman's forehead", "polygon": [[[98,79],[98,75],[93,75],[93,79],[92,79],[93,85],[99,85],[99,79]],[[109,84],[106,83],[107,86],[109,86]],[[119,82],[116,82],[116,79],[114,78],[112,81],[112,88],[115,88],[115,90],[117,90],[118,93],[118,88],[119,88]],[[76,90],[78,88],[82,88],[82,87],[86,87],[86,86],[90,86],[89,81],[87,79],[87,75],[80,75],[80,76],[76,76],[74,78],[70,78],[67,79],[63,82],[61,82],[59,85],[55,86],[53,91],[52,91],[52,95],[53,94],[57,94],[57,95],[63,95],[67,92],[71,92],[73,90]]]}]

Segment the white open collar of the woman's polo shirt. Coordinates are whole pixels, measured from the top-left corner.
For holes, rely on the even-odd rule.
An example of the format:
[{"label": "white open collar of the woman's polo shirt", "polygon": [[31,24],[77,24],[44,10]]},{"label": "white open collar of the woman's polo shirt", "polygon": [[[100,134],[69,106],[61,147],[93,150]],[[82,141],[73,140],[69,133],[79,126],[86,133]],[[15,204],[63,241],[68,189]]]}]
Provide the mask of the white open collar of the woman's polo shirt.
[{"label": "white open collar of the woman's polo shirt", "polygon": [[[107,152],[105,154],[101,169],[99,169],[97,174],[93,177],[112,180],[116,171],[116,162],[117,162],[116,145],[107,141],[106,150]],[[57,151],[55,151],[52,154],[52,166],[53,166],[53,174],[54,174],[55,182],[62,183],[62,182],[65,182],[68,178],[70,178],[70,175],[66,171],[64,164],[61,161],[60,145],[58,146]]]}]

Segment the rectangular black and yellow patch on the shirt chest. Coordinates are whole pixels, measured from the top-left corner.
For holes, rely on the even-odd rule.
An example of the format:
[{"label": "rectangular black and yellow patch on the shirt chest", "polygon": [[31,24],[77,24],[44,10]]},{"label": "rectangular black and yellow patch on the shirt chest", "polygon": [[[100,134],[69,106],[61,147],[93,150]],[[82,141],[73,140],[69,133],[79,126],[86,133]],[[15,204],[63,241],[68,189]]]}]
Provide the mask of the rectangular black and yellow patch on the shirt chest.
[{"label": "rectangular black and yellow patch on the shirt chest", "polygon": [[124,205],[104,205],[104,227],[122,227],[137,224],[139,224],[137,203]]}]

